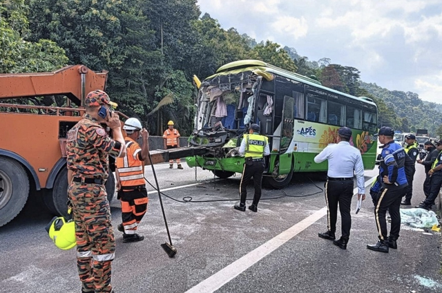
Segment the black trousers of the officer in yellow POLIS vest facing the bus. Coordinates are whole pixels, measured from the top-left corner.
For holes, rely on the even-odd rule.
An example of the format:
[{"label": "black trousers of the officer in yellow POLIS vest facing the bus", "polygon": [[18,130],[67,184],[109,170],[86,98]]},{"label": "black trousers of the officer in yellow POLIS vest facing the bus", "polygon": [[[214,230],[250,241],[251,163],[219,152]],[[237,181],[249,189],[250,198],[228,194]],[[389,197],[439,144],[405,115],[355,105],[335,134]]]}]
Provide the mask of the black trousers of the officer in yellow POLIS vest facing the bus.
[{"label": "black trousers of the officer in yellow POLIS vest facing the bus", "polygon": [[253,177],[253,185],[255,187],[255,194],[253,196],[253,205],[258,205],[261,198],[261,182],[262,173],[264,173],[264,160],[253,161],[251,164],[244,163],[244,169],[242,169],[242,177],[240,182],[240,202],[246,203],[247,199],[247,185],[250,179]]}]

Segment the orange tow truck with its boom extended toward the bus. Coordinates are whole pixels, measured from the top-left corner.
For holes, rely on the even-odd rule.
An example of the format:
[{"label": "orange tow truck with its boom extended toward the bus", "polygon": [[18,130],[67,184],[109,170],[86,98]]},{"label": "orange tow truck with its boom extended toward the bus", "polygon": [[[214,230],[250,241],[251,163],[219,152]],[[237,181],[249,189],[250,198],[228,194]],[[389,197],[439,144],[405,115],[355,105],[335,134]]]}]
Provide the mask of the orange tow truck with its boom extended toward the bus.
[{"label": "orange tow truck with its boom extended toward the bus", "polygon": [[[19,214],[30,191],[40,191],[31,194],[42,196],[52,213],[66,215],[66,133],[84,115],[86,95],[97,89],[104,91],[107,76],[105,70],[96,73],[83,65],[50,73],[0,74],[0,227]],[[11,104],[5,100],[28,102],[35,97],[55,96],[63,97],[64,106]],[[184,147],[151,151],[151,158],[155,164],[204,152],[202,148]],[[111,171],[115,171],[110,159]],[[114,176],[109,176],[106,191],[111,201]]]}]

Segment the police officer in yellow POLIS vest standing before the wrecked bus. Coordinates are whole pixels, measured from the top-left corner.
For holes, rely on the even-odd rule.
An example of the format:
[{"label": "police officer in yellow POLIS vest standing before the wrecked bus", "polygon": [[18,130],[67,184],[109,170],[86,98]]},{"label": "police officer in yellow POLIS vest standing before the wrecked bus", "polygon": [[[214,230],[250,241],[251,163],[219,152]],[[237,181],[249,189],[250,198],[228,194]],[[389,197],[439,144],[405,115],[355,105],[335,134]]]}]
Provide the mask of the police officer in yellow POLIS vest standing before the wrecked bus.
[{"label": "police officer in yellow POLIS vest standing before the wrecked bus", "polygon": [[260,126],[251,124],[249,134],[242,138],[239,153],[245,156],[244,169],[240,182],[240,204],[234,208],[238,211],[246,210],[247,184],[253,176],[255,194],[253,203],[249,206],[251,211],[258,211],[258,202],[261,198],[262,173],[264,173],[264,155],[270,155],[269,141],[266,136],[260,135]]}]

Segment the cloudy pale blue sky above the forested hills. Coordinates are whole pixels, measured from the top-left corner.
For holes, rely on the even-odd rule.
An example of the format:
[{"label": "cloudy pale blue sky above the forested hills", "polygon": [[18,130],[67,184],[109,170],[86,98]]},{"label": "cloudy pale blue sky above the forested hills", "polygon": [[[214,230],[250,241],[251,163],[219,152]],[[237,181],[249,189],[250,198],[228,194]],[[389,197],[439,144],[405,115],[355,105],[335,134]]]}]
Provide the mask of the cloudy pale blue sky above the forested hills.
[{"label": "cloudy pale blue sky above the forested hills", "polygon": [[224,29],[361,71],[363,82],[442,104],[441,0],[198,0]]}]

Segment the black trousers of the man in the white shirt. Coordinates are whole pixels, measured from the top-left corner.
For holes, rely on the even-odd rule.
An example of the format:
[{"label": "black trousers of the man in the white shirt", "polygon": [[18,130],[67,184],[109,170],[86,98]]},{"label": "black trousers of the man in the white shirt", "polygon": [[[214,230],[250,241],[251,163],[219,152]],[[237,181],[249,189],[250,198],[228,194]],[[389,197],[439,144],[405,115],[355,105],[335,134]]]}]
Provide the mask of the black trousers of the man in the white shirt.
[{"label": "black trousers of the man in the white shirt", "polygon": [[350,206],[353,197],[353,180],[331,181],[325,183],[325,202],[327,202],[327,228],[335,233],[338,218],[338,204],[341,219],[341,236],[348,240],[352,228]]}]

